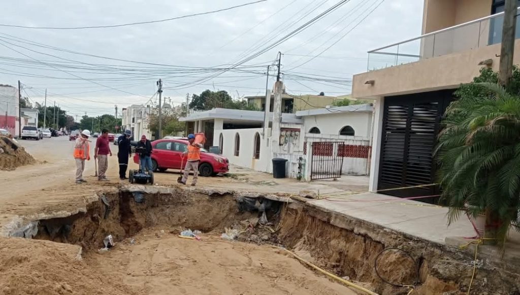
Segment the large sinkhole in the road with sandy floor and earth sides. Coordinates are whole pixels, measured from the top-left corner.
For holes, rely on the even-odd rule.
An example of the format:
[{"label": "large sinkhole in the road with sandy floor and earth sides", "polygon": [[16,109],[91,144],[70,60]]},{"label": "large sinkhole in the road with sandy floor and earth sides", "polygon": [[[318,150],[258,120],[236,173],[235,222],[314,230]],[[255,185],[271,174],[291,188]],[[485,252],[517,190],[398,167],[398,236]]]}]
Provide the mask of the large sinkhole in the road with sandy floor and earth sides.
[{"label": "large sinkhole in the road with sandy floor and earth sides", "polygon": [[[262,290],[256,293],[274,294],[359,292],[269,245],[292,249],[367,289],[383,294],[408,292],[382,283],[374,274],[373,259],[384,249],[382,243],[329,221],[308,214],[304,203],[288,198],[120,190],[100,194],[84,212],[39,220],[34,238],[80,245],[90,267],[138,292],[145,288],[148,293],[169,294],[175,286],[186,290],[179,293],[193,294],[248,294],[255,288]],[[201,240],[180,238],[186,229],[201,231]],[[223,240],[220,235],[225,229],[237,230],[237,241]],[[99,251],[109,234],[115,246]],[[387,256],[380,272],[396,281],[413,281],[416,272],[407,259],[399,253]],[[201,276],[207,279],[203,284]],[[190,292],[192,284],[202,285]]]}]

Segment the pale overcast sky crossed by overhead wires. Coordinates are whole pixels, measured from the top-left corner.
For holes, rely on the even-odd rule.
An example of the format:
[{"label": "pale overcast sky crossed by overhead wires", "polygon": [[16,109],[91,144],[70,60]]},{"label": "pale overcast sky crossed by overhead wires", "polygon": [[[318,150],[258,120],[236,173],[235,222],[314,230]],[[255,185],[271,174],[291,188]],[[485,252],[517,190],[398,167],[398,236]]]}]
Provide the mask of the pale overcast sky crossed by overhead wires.
[{"label": "pale overcast sky crossed by overhead wires", "polygon": [[[23,96],[32,102],[43,103],[47,89],[47,105],[56,102],[73,116],[97,116],[113,114],[115,105],[121,110],[131,104],[156,104],[160,78],[162,95],[173,105],[205,89],[226,90],[235,98],[265,95],[267,65],[282,52],[281,78],[287,92],[340,96],[350,93],[353,74],[372,68],[367,51],[421,34],[420,0],[350,0],[287,38],[340,0],[267,0],[115,28],[5,26],[107,26],[254,1],[11,2],[3,6],[0,20],[0,84],[16,86],[20,80]],[[372,63],[386,59],[371,56]],[[270,69],[269,88],[276,79],[276,67]]]}]

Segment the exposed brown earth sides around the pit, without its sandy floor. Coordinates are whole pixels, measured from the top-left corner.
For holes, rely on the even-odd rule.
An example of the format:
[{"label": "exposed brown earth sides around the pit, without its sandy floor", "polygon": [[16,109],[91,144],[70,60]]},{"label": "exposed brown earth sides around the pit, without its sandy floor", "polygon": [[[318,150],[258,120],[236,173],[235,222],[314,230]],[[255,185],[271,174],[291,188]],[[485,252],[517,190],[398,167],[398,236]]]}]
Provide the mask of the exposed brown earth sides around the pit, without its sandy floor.
[{"label": "exposed brown earth sides around the pit, without its sandy floor", "polygon": [[[269,223],[256,225],[263,211]],[[255,226],[244,223],[251,220]],[[319,267],[380,294],[407,294],[410,288],[395,286],[399,284],[414,286],[413,294],[465,293],[473,273],[469,252],[276,196],[123,188],[117,193],[98,194],[82,212],[32,224],[33,238],[80,245],[87,257],[103,247],[108,234],[116,242],[128,243],[141,231],[161,226],[168,229],[165,234],[175,236],[180,229],[197,229],[202,236],[213,237],[225,228],[244,229],[239,241],[287,247]],[[384,249],[392,247],[402,251],[381,254],[378,275],[374,261]],[[500,259],[481,261],[471,293],[520,294],[518,267]]]}]

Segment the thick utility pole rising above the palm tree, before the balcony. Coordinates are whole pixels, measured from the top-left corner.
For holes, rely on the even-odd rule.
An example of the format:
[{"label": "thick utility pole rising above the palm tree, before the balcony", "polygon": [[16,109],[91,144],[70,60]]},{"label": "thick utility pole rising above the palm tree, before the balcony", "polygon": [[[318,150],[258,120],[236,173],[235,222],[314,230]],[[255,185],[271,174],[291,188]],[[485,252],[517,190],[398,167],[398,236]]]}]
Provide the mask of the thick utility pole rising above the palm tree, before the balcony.
[{"label": "thick utility pole rising above the palm tree, before the balcony", "polygon": [[500,47],[500,85],[507,85],[513,76],[513,53],[515,49],[516,0],[505,0],[502,44]]}]

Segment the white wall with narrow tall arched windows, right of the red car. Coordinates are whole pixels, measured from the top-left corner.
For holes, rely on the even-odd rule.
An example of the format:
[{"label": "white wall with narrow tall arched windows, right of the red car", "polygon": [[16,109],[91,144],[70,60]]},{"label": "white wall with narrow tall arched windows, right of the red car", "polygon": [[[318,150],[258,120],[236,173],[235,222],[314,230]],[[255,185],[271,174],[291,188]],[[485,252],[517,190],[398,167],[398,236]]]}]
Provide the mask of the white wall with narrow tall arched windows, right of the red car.
[{"label": "white wall with narrow tall arched windows, right of the red car", "polygon": [[[215,130],[213,142],[218,145],[220,134],[223,135],[222,155],[229,159],[229,163],[257,171],[269,172],[270,168],[270,151],[266,149],[266,142],[262,139],[263,128],[251,129],[219,129]],[[235,156],[235,138],[240,136],[240,152]],[[254,159],[254,137],[258,133],[260,135],[260,158]]]}]

